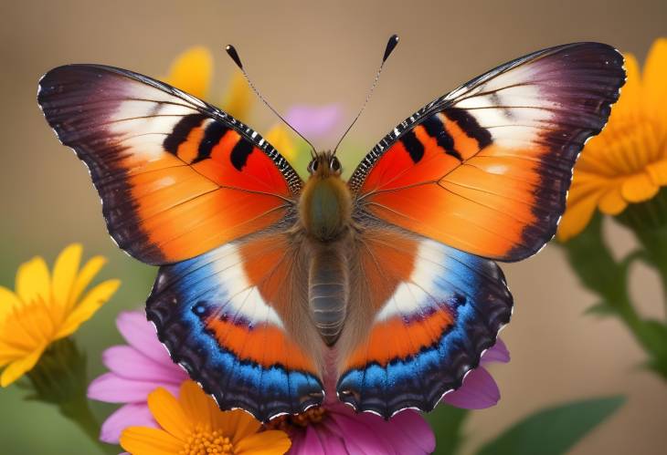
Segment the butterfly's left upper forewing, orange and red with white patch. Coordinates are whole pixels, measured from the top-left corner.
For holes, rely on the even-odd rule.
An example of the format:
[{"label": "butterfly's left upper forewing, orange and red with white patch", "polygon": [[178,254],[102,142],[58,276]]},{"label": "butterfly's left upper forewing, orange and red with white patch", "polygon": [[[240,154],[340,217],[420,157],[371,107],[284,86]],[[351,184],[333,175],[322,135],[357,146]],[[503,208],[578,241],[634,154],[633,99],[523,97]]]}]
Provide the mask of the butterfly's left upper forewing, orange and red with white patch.
[{"label": "butterfly's left upper forewing, orange and red with white patch", "polygon": [[204,101],[115,67],[49,71],[37,100],[100,193],[111,236],[149,264],[195,257],[279,222],[302,181]]}]

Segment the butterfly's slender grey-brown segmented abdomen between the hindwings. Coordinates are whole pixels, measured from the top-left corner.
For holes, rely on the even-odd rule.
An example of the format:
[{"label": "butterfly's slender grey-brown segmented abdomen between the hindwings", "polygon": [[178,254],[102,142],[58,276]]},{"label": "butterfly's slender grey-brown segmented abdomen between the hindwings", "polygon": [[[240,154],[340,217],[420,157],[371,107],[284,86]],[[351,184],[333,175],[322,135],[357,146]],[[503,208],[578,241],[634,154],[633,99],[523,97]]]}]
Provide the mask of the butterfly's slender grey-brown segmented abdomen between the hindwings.
[{"label": "butterfly's slender grey-brown segmented abdomen between the hindwings", "polygon": [[308,271],[308,301],[324,343],[341,335],[349,296],[348,265],[341,243],[313,245]]}]

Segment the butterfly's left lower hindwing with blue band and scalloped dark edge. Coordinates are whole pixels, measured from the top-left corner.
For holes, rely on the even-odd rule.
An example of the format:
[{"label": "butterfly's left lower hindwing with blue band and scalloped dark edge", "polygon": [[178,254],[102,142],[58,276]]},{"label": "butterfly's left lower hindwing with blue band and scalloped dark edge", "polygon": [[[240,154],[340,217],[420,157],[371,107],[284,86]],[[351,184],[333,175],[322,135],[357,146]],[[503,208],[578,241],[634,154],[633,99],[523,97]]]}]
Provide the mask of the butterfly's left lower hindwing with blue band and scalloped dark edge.
[{"label": "butterfly's left lower hindwing with blue band and scalloped dark edge", "polygon": [[160,269],[148,318],[221,408],[265,421],[322,403],[299,256],[284,233],[262,233]]}]

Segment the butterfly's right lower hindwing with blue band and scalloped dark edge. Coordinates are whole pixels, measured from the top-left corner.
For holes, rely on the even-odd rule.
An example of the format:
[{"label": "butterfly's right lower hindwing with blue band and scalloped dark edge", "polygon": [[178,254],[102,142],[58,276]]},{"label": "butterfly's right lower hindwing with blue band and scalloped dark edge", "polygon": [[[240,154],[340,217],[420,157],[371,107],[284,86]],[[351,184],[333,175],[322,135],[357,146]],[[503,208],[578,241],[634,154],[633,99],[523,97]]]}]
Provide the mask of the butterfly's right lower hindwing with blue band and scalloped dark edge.
[{"label": "butterfly's right lower hindwing with blue band and scalloped dark edge", "polygon": [[509,322],[513,299],[488,259],[397,230],[366,226],[338,349],[338,397],[386,418],[429,411],[461,387]]}]

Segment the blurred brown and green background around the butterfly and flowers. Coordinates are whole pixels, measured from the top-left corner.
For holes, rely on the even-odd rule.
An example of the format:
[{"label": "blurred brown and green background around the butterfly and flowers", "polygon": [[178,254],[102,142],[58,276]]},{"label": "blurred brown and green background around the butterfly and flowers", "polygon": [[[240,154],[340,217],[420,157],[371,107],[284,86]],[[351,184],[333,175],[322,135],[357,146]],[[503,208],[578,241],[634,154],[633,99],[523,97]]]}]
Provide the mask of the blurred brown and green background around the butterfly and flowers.
[{"label": "blurred brown and green background around the butterfly and flowers", "polygon": [[[49,264],[66,244],[110,258],[103,277],[122,289],[76,337],[89,352],[90,374],[100,353],[121,341],[113,324],[122,309],[140,308],[155,269],[138,264],[108,237],[88,172],[58,145],[37,108],[37,79],[66,63],[103,63],[164,76],[187,47],[213,49],[212,99],[220,99],[235,70],[224,53],[233,43],[263,95],[281,111],[293,103],[340,103],[350,118],[365,98],[387,36],[401,42],[386,65],[373,100],[340,150],[355,166],[398,121],[462,82],[514,57],[572,41],[595,40],[643,61],[654,38],[667,36],[667,2],[629,1],[373,1],[3,2],[0,27],[0,284],[13,287],[16,266],[40,254]],[[260,133],[275,122],[256,104]],[[341,129],[344,129],[341,126]],[[341,131],[342,132],[342,131]],[[334,135],[335,136],[335,135]],[[331,143],[315,144],[331,148]],[[633,239],[608,222],[615,253]],[[472,413],[466,450],[546,405],[623,394],[626,404],[590,434],[574,454],[658,454],[667,447],[667,388],[641,369],[641,349],[616,320],[584,315],[595,303],[578,284],[557,245],[520,264],[503,266],[515,298],[503,331],[512,353],[492,367],[503,398]],[[636,267],[632,293],[643,315],[662,317],[657,277]],[[0,390],[0,452],[93,453],[79,429],[55,408]],[[106,416],[111,406],[96,403]],[[437,430],[437,429],[436,429]]]}]

